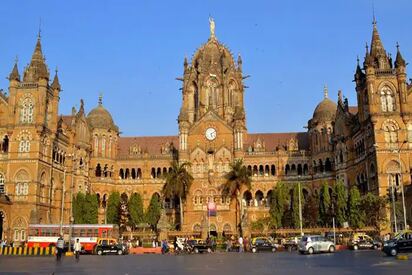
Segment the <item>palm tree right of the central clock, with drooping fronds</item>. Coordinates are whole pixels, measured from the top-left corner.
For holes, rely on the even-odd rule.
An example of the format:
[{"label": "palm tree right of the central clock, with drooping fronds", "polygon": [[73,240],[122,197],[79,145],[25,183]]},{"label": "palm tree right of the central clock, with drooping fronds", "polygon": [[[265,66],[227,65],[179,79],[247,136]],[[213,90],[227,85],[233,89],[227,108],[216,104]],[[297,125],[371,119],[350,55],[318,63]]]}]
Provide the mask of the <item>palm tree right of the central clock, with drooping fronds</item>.
[{"label": "palm tree right of the central clock, with drooping fronds", "polygon": [[246,187],[251,189],[252,173],[246,166],[243,165],[242,159],[237,159],[230,164],[230,171],[225,175],[226,182],[222,186],[222,195],[236,199],[236,226],[239,226],[240,234],[242,234],[242,221],[239,218],[238,225],[238,205],[240,213],[242,213],[241,195],[240,191]]}]

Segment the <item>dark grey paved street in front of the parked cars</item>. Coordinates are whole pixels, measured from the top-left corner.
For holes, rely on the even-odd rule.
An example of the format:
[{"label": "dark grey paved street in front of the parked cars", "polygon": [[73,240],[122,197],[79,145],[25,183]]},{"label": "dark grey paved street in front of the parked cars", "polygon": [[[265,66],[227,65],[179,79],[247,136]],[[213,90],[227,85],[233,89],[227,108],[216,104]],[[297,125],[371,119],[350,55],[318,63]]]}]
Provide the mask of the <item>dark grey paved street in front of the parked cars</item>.
[{"label": "dark grey paved street in front of the parked cars", "polygon": [[0,257],[0,274],[411,274],[412,259],[380,251],[298,255],[215,253],[211,255],[82,256],[79,263],[52,257]]}]

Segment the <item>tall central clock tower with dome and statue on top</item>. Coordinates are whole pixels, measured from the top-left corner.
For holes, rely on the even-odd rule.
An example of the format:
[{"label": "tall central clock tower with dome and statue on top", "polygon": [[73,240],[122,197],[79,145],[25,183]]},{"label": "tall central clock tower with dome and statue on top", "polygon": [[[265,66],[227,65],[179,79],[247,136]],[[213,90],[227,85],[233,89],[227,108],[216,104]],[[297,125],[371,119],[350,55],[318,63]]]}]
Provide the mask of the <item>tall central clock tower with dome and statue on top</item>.
[{"label": "tall central clock tower with dome and statue on top", "polygon": [[[234,158],[243,157],[247,134],[242,59],[238,56],[237,61],[234,60],[231,52],[217,40],[214,21],[210,22],[208,41],[190,63],[185,58],[183,77],[179,79],[183,82],[183,102],[178,117],[179,160],[192,164],[195,179],[186,201],[194,205],[184,207],[185,215],[192,219],[185,220],[199,223],[205,220],[207,203],[219,197],[219,187],[230,163]],[[229,205],[227,207],[229,214]],[[224,211],[218,209],[218,218],[219,214]],[[190,224],[183,227],[192,230]]]}]

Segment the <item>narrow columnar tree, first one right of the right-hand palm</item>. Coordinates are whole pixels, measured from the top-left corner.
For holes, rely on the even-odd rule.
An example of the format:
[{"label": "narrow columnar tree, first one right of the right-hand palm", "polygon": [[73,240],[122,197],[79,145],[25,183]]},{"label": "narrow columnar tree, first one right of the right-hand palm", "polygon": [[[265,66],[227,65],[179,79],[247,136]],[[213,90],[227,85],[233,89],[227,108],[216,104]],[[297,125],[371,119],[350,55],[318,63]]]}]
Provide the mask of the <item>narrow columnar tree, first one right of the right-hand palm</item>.
[{"label": "narrow columnar tree, first one right of the right-hand palm", "polygon": [[283,215],[287,209],[288,192],[286,186],[279,182],[272,191],[272,200],[270,205],[270,216],[272,218],[272,225],[275,228],[283,226]]}]

